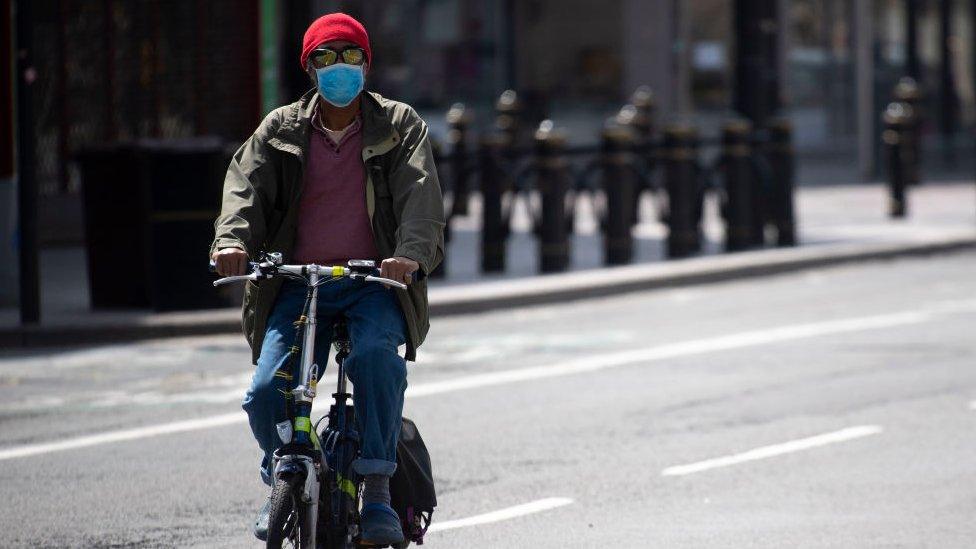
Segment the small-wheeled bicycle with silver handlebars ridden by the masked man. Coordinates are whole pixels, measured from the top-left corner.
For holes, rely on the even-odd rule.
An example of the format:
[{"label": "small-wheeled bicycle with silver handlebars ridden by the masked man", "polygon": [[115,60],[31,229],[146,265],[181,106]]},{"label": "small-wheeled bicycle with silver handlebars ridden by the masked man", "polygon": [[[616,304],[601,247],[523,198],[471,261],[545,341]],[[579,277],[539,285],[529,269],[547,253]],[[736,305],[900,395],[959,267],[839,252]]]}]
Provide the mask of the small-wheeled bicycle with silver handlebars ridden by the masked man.
[{"label": "small-wheeled bicycle with silver handlebars ridden by the masked man", "polygon": [[[308,287],[305,305],[296,322],[296,344],[288,358],[294,369],[295,358],[300,354],[299,367],[292,374],[296,386],[290,391],[291,399],[288,400],[289,421],[278,424],[278,434],[285,444],[273,457],[274,485],[267,547],[364,547],[359,544],[358,537],[362,479],[352,469],[352,462],[359,454],[359,435],[354,428],[355,408],[347,404],[352,394],[347,391],[343,366],[351,343],[345,318],[341,315],[333,324],[332,341],[338,364],[338,382],[336,392],[332,394],[334,401],[329,413],[314,426],[310,418],[319,374],[319,366],[314,363],[318,289],[343,277],[401,289],[406,289],[407,285],[379,276],[380,270],[372,260],[350,260],[345,267],[284,265],[281,254],[273,253],[262,254],[261,261],[249,263],[249,270],[248,274],[220,278],[213,284],[220,286],[283,277],[301,281]],[[319,435],[318,425],[326,418],[328,423]],[[321,489],[323,485],[326,487],[324,491]],[[410,540],[405,537],[393,547],[403,549],[409,544]]]}]

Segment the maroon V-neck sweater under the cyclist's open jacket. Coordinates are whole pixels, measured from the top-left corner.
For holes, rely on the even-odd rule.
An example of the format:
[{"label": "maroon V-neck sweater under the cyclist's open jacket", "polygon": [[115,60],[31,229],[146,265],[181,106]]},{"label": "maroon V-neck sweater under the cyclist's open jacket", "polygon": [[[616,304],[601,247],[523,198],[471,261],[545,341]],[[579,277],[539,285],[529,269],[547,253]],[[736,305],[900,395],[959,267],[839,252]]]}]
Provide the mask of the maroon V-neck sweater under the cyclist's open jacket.
[{"label": "maroon V-neck sweater under the cyclist's open jacket", "polygon": [[357,118],[338,143],[312,117],[308,159],[298,208],[294,259],[344,265],[349,259],[381,259],[366,211],[362,124]]}]

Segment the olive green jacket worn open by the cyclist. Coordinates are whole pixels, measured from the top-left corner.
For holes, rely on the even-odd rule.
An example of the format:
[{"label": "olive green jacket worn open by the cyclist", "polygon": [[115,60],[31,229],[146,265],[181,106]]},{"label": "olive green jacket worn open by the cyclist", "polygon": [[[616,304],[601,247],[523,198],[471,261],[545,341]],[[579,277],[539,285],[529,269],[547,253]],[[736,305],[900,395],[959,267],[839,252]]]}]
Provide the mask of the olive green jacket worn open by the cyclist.
[{"label": "olive green jacket worn open by the cyclist", "polygon": [[[242,248],[281,252],[288,262],[315,102],[314,90],[272,111],[231,160],[210,252]],[[364,92],[363,162],[366,210],[381,257],[407,257],[430,273],[444,257],[444,209],[427,124],[409,105]],[[257,363],[280,279],[244,290],[244,335]],[[429,327],[426,279],[396,290],[407,323],[407,360],[415,360]]]}]

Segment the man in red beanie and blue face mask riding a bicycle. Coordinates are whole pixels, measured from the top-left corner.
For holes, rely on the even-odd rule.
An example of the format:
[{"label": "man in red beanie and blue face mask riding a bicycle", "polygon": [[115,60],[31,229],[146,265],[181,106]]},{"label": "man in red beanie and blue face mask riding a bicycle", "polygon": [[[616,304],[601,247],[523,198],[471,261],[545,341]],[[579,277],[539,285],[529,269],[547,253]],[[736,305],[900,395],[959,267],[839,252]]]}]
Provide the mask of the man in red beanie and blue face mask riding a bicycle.
[{"label": "man in red beanie and blue face mask riding a bicycle", "polygon": [[[429,273],[443,258],[444,214],[427,125],[408,105],[363,91],[371,63],[366,29],[329,14],[305,32],[301,64],[315,86],[269,114],[227,170],[211,257],[224,276],[242,274],[259,250],[287,263],[345,264],[382,260],[384,277],[410,284],[389,290],[342,279],[321,287],[316,362],[329,352],[331,322],[345,315],[352,340],[347,371],[355,386],[365,477],[363,541],[402,541],[390,507],[396,469],[406,363],[427,334],[427,289],[411,273]],[[412,283],[411,283],[412,282]],[[273,481],[271,456],[282,445],[275,425],[286,419],[284,365],[304,286],[280,280],[248,283],[244,331],[257,365],[244,397],[251,430],[265,456],[261,476]],[[268,507],[255,535],[267,535]]]}]

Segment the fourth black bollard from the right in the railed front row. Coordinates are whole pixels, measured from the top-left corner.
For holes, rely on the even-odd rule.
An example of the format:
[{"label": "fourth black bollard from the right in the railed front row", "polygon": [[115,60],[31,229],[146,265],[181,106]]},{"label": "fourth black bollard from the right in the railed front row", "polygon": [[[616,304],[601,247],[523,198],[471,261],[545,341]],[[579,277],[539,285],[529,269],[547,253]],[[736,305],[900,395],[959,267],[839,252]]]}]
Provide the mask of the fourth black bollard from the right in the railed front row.
[{"label": "fourth black bollard from the right in the railed front row", "polygon": [[618,124],[617,119],[608,121],[601,134],[602,186],[606,197],[603,260],[607,265],[630,263],[634,255],[632,229],[640,191],[634,172],[635,137],[633,128]]}]

